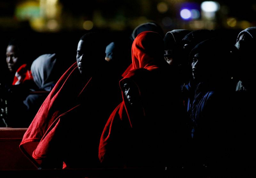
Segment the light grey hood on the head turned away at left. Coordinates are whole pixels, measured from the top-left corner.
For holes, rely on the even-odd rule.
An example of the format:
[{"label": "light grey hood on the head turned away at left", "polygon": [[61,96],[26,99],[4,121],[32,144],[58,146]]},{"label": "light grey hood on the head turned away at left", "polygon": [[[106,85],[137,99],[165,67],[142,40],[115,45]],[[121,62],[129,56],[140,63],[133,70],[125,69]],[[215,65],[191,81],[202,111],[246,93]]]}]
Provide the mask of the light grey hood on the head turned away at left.
[{"label": "light grey hood on the head turned away at left", "polygon": [[56,61],[56,54],[44,54],[33,61],[31,73],[40,89],[50,91],[53,85],[56,84],[55,74],[52,72]]}]

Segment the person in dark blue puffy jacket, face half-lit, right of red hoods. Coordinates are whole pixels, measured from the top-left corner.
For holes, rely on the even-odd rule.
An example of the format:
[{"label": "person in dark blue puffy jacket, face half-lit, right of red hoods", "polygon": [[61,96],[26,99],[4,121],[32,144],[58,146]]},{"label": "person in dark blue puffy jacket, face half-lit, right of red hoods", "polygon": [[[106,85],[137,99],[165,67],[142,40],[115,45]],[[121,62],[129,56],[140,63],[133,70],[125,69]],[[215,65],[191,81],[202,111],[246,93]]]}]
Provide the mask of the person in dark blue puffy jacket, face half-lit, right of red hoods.
[{"label": "person in dark blue puffy jacket, face half-lit, right of red hoods", "polygon": [[[192,49],[189,61],[195,86],[191,101],[191,165],[196,170],[225,170],[233,149],[231,53],[223,39],[212,38]],[[218,59],[220,65],[212,65]],[[225,101],[225,102],[223,102]]]}]

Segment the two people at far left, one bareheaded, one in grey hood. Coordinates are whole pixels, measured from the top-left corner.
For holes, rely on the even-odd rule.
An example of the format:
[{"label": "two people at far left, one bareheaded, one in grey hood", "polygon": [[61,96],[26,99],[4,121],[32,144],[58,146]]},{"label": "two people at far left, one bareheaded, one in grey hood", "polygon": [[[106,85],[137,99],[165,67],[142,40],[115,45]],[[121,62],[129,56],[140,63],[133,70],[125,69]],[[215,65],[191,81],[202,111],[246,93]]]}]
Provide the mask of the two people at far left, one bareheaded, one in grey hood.
[{"label": "two people at far left, one bareheaded, one in grey hood", "polygon": [[57,54],[40,55],[31,63],[22,47],[22,41],[13,38],[6,48],[8,71],[0,81],[0,127],[27,128],[63,72]]}]

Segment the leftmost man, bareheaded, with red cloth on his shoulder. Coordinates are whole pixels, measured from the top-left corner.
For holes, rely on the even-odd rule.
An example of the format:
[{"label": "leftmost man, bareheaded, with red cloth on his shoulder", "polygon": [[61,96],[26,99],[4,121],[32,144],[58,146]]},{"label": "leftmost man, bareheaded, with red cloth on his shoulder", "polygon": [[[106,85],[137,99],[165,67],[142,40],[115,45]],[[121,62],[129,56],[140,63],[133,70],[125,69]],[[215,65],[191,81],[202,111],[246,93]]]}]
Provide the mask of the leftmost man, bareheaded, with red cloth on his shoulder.
[{"label": "leftmost man, bareheaded, with red cloth on his shoulder", "polygon": [[30,89],[36,88],[36,84],[26,57],[28,56],[25,56],[25,48],[20,39],[12,38],[6,48],[8,70],[5,73],[4,80],[1,79],[0,82],[1,109],[5,111],[2,119],[5,127],[23,127],[27,125],[23,119],[20,119],[20,114],[25,111],[22,107],[22,101],[26,99]]}]

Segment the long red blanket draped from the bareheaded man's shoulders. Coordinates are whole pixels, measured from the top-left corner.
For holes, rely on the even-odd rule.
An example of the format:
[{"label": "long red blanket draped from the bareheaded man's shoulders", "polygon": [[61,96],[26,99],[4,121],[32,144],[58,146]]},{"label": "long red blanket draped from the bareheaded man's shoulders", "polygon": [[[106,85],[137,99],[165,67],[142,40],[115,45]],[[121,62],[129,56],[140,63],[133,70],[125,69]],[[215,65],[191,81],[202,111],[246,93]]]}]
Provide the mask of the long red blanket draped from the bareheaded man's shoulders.
[{"label": "long red blanket draped from the bareheaded man's shoulders", "polygon": [[65,122],[65,119],[68,119],[65,115],[79,108],[82,94],[90,88],[91,83],[91,78],[87,81],[80,78],[77,63],[74,63],[44,100],[20,143],[21,151],[37,167],[40,167],[47,153],[51,153],[52,138],[55,138],[58,144],[61,133],[55,134],[56,130],[61,130],[61,121]]}]

